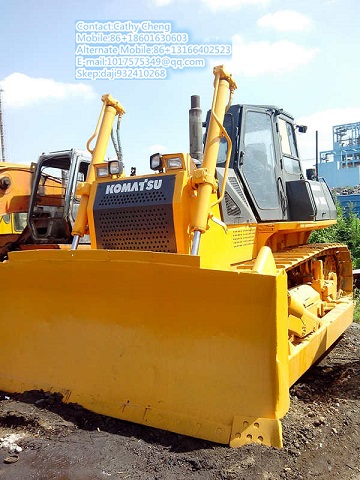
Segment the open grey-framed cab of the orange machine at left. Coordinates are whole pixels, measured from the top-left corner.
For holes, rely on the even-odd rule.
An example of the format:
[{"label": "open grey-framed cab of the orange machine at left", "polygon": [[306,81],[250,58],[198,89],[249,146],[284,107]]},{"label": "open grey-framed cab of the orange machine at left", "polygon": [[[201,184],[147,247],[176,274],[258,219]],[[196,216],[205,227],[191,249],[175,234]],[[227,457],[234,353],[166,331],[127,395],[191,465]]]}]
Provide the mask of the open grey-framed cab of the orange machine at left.
[{"label": "open grey-framed cab of the orange machine at left", "polygon": [[40,156],[32,185],[27,226],[35,243],[71,243],[80,197],[78,182],[84,182],[90,157],[80,150]]}]

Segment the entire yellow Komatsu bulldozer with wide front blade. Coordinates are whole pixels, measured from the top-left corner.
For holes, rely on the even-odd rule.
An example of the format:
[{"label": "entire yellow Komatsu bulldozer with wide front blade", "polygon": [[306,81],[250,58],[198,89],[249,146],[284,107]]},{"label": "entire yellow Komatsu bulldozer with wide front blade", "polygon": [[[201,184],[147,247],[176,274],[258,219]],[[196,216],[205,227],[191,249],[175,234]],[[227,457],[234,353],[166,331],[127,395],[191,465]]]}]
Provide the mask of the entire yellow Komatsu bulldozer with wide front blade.
[{"label": "entire yellow Komatsu bulldozer with wide front blade", "polygon": [[352,322],[351,259],[344,245],[308,244],[336,209],[326,183],[302,174],[293,118],[231,106],[232,76],[214,76],[202,163],[154,154],[148,175],[104,161],[124,109],[102,97],[71,246],[0,264],[1,390],[282,446],[290,386]]}]

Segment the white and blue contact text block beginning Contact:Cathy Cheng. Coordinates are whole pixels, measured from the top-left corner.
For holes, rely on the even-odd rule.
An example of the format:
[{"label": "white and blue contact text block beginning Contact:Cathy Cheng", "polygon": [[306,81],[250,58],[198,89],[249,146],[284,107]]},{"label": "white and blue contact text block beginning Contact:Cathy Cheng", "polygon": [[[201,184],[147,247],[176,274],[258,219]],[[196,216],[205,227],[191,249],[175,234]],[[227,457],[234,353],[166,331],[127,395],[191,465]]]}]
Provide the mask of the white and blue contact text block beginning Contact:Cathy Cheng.
[{"label": "white and blue contact text block beginning Contact:Cathy Cheng", "polygon": [[165,79],[169,70],[203,68],[207,58],[231,53],[231,44],[192,43],[171,22],[76,22],[77,79]]}]

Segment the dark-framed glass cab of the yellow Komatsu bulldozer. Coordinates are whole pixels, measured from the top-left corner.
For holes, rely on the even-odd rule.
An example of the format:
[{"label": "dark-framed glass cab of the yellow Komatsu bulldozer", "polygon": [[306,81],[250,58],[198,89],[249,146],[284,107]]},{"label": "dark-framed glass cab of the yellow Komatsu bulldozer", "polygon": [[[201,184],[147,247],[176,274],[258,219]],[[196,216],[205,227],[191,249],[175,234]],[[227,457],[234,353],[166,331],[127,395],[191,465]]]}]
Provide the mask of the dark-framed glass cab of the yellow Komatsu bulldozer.
[{"label": "dark-framed glass cab of the yellow Komatsu bulldozer", "polygon": [[[209,114],[206,125],[208,121]],[[237,179],[237,190],[241,189],[238,202],[234,198],[231,201],[240,202],[240,210],[248,210],[243,220],[238,216],[233,223],[336,218],[326,183],[304,178],[293,117],[272,106],[233,105],[225,115],[224,126],[233,145],[229,180],[231,183],[231,178]],[[220,179],[226,154],[227,143],[222,139],[217,161]],[[225,216],[229,195],[228,191],[227,203],[222,202]]]}]

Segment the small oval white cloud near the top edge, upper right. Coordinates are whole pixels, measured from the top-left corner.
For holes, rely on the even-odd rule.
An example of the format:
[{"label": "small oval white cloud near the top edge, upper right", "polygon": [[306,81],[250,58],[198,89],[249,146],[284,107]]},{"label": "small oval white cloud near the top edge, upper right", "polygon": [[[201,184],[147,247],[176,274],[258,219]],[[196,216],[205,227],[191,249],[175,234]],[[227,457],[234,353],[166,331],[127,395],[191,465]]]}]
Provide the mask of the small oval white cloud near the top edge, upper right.
[{"label": "small oval white cloud near the top edge, upper right", "polygon": [[311,25],[311,19],[294,10],[268,13],[256,22],[259,27],[274,28],[278,32],[301,32]]}]

